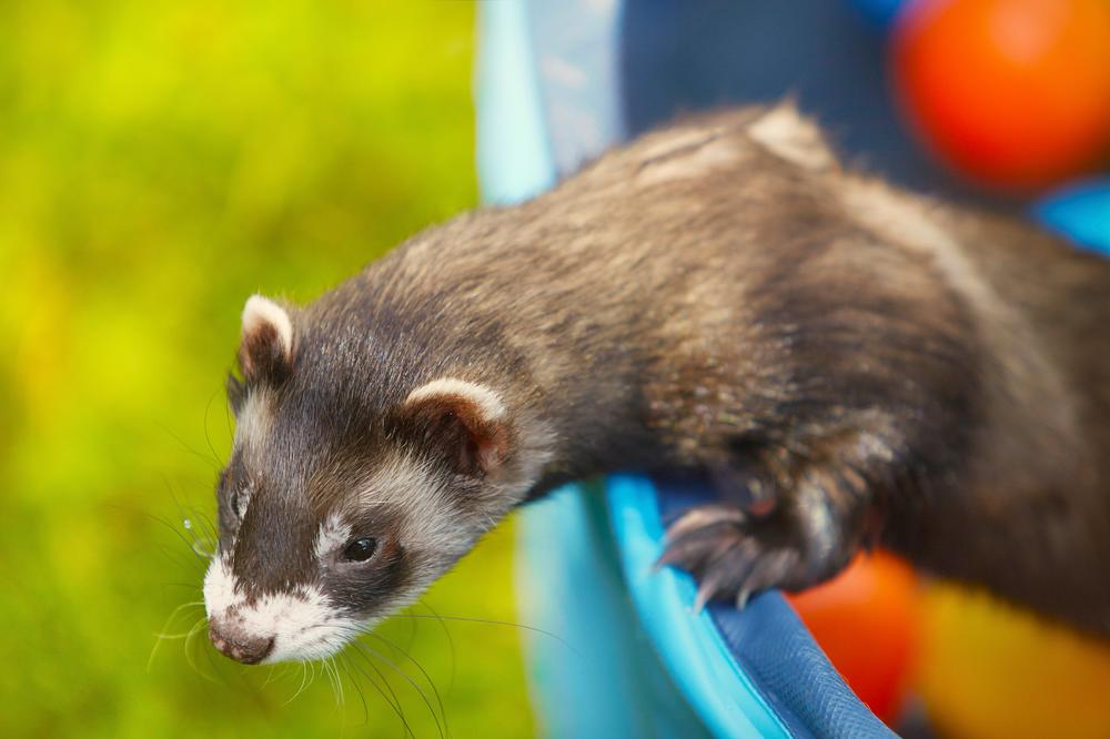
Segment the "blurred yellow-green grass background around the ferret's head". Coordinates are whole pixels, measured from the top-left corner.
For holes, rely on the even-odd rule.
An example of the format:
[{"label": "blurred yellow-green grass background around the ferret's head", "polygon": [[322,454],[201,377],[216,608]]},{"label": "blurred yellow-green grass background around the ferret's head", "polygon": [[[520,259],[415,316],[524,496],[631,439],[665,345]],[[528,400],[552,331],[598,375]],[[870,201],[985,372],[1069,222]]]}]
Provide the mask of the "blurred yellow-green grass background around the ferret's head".
[{"label": "blurred yellow-green grass background around the ferret's head", "polygon": [[[0,735],[404,736],[357,656],[337,707],[327,678],[290,701],[300,668],[239,668],[203,632],[151,650],[202,615],[170,618],[199,599],[182,522],[213,513],[243,300],[307,300],[475,203],[473,13],[0,3]],[[513,620],[511,548],[495,532],[425,603]],[[454,736],[533,732],[518,630],[382,632]],[[367,644],[438,736],[428,679]]]}]

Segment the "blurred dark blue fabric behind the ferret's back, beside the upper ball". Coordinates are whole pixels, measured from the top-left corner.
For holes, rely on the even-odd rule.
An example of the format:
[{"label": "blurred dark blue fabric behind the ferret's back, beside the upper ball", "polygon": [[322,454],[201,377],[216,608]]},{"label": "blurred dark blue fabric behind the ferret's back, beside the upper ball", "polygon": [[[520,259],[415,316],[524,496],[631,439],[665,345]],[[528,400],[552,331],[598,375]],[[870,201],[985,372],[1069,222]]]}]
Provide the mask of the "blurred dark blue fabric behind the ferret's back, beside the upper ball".
[{"label": "blurred dark blue fabric behind the ferret's back, beside the upper ball", "polygon": [[890,90],[886,38],[847,0],[636,0],[623,6],[629,136],[676,114],[794,95],[849,159],[892,182],[1018,203],[969,186],[912,139]]}]

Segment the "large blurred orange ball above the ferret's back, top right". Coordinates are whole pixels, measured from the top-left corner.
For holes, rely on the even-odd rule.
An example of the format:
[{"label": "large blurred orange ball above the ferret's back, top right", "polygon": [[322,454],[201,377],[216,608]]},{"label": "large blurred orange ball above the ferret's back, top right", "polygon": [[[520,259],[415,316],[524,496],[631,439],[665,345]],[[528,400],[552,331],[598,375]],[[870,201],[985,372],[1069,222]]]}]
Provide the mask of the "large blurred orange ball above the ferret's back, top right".
[{"label": "large blurred orange ball above the ferret's back, top right", "polygon": [[916,0],[892,52],[918,133],[982,184],[1029,192],[1110,153],[1108,0]]}]

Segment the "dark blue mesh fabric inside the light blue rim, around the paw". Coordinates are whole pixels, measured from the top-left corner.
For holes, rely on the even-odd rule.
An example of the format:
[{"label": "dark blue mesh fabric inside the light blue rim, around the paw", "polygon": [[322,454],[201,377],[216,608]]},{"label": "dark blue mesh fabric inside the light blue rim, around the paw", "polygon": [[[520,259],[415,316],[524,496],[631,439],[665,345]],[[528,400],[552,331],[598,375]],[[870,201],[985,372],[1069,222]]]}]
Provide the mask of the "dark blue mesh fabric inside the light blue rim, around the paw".
[{"label": "dark blue mesh fabric inside the light blue rim, around the paw", "polygon": [[[657,479],[656,486],[664,519],[712,497],[694,478]],[[795,736],[896,736],[848,688],[777,593],[754,598],[743,611],[714,605],[709,613],[741,669]]]}]

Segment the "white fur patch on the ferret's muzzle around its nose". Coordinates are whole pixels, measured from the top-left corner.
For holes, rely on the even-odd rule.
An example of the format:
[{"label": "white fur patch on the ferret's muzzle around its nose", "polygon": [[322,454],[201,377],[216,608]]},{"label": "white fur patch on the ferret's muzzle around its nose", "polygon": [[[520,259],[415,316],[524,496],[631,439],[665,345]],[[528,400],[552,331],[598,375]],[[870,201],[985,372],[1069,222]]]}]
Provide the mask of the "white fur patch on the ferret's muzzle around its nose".
[{"label": "white fur patch on the ferret's muzzle around its nose", "polygon": [[339,616],[313,587],[263,596],[248,605],[225,557],[216,557],[204,576],[204,607],[210,620],[253,637],[274,637],[263,664],[306,661],[329,657],[362,630],[355,619]]}]

